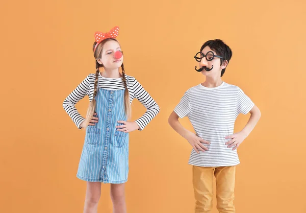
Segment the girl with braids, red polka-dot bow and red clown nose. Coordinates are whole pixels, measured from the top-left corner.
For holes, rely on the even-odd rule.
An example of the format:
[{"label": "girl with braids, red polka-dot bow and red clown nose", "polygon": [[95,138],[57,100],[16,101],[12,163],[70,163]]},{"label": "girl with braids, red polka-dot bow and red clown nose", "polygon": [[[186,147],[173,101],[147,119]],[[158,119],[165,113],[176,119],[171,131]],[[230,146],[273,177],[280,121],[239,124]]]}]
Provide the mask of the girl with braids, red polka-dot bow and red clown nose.
[{"label": "girl with braids, red polka-dot bow and red clown nose", "polygon": [[[86,213],[97,212],[101,182],[111,184],[114,212],[126,212],[124,183],[129,172],[129,132],[143,130],[160,111],[141,84],[125,75],[120,44],[115,39],[118,31],[116,26],[108,33],[95,33],[96,73],[88,75],[63,103],[75,125],[79,129],[86,128],[77,173],[78,178],[87,181]],[[100,73],[101,67],[104,71]],[[90,105],[84,119],[75,104],[86,95]],[[129,122],[134,98],[147,110],[138,120]]]}]

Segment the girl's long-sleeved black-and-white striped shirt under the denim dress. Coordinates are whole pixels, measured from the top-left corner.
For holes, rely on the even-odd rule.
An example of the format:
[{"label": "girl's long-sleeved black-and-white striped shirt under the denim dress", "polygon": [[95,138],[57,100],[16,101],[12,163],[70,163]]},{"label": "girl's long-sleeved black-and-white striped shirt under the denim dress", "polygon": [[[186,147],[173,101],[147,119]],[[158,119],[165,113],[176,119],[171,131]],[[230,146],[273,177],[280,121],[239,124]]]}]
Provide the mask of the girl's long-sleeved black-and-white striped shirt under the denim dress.
[{"label": "girl's long-sleeved black-and-white striped shirt under the denim dress", "polygon": [[[125,75],[127,79],[127,90],[130,94],[130,103],[136,98],[146,108],[146,112],[135,122],[143,130],[144,127],[159,113],[160,108],[150,94],[142,87],[142,85],[132,76]],[[95,74],[89,74],[69,96],[65,99],[63,107],[71,117],[72,121],[79,129],[80,124],[85,120],[84,117],[75,108],[81,99],[89,96],[89,101],[93,98]],[[125,89],[123,78],[105,78],[99,74],[98,87],[110,90]]]}]

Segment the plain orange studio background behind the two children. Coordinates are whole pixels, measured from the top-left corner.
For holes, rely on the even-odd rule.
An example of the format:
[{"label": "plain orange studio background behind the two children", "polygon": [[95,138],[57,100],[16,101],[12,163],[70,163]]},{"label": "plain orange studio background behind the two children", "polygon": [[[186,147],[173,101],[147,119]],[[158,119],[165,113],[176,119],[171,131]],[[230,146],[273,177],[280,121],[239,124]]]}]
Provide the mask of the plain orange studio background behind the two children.
[{"label": "plain orange studio background behind the two children", "polygon": [[[85,132],[62,102],[94,73],[93,33],[115,25],[126,73],[161,108],[130,135],[128,212],[193,212],[191,146],[167,119],[205,80],[193,56],[215,38],[234,53],[223,80],[262,112],[238,149],[237,212],[306,212],[305,7],[298,0],[3,2],[0,212],[83,212],[86,183],[75,174]],[[88,97],[77,104],[84,116],[87,106]],[[144,111],[134,100],[133,118]],[[248,117],[238,117],[236,132]],[[102,186],[98,212],[111,212],[109,187]]]}]

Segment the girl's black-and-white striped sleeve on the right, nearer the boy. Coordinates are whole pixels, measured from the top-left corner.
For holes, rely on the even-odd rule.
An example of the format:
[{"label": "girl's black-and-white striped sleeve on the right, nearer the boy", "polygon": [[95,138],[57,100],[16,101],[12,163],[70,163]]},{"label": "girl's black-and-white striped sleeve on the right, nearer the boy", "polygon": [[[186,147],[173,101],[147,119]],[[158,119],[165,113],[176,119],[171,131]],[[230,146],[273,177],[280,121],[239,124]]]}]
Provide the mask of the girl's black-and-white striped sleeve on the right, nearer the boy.
[{"label": "girl's black-and-white striped sleeve on the right, nearer the boy", "polygon": [[[135,79],[135,78],[134,78]],[[142,85],[135,79],[133,84],[134,97],[146,108],[146,112],[135,122],[143,130],[148,123],[154,119],[159,113],[159,105],[155,102],[150,94],[142,87]]]}]

